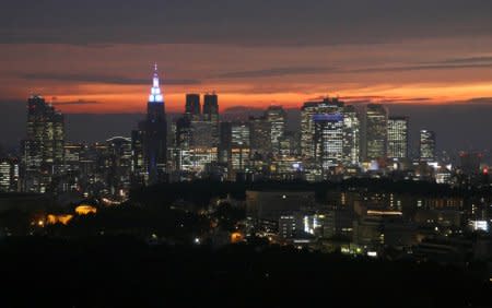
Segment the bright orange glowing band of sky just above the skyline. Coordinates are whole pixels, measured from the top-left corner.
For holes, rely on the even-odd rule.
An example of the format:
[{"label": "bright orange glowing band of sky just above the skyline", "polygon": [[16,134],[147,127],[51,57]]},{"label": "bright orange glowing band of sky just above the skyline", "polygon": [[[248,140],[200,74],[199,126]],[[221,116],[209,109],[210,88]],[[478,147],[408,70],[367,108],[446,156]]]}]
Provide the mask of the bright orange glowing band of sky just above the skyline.
[{"label": "bright orange glowing band of sky just above the skyline", "polygon": [[[145,112],[147,92],[149,86],[134,85],[84,85],[77,94],[45,94],[48,102],[66,114],[130,114]],[[211,87],[220,88],[220,87]],[[206,91],[189,91],[184,88],[164,88],[166,111],[181,112],[185,107],[186,93],[206,93]],[[246,92],[246,91],[245,91]],[[324,97],[327,93],[314,92],[274,92],[274,93],[243,93],[227,91],[216,92],[221,111],[232,107],[266,108],[270,105],[281,105],[284,108],[298,108],[306,100]],[[383,103],[383,104],[459,104],[473,97],[492,97],[492,83],[454,84],[454,85],[379,85],[374,87],[353,87],[330,96],[339,96],[351,103]],[[56,99],[51,99],[56,97]],[[345,97],[345,98],[344,98]],[[370,97],[370,98],[367,98]],[[425,97],[421,102],[415,97]],[[17,99],[19,100],[19,99]],[[63,102],[69,102],[65,105]],[[80,104],[77,104],[80,102]]]}]

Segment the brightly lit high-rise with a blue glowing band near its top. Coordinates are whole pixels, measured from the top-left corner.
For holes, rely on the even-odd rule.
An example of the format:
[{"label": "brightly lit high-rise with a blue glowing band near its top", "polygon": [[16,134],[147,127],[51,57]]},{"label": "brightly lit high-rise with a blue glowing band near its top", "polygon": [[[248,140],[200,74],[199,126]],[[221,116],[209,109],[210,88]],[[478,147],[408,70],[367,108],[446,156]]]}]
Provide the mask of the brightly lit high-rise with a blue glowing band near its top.
[{"label": "brightly lit high-rise with a blue glowing band near its top", "polygon": [[323,170],[341,164],[343,158],[343,115],[318,114],[313,116],[315,125],[314,156]]}]

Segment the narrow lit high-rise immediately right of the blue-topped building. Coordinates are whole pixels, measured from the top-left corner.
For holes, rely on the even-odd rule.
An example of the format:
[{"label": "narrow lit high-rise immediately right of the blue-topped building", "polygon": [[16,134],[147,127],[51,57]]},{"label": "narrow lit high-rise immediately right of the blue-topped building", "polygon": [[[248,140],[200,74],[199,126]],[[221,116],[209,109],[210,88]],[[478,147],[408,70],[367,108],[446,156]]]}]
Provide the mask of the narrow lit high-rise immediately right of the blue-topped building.
[{"label": "narrow lit high-rise immediately right of the blue-topped building", "polygon": [[354,106],[343,107],[343,165],[355,166],[361,162],[361,121]]}]

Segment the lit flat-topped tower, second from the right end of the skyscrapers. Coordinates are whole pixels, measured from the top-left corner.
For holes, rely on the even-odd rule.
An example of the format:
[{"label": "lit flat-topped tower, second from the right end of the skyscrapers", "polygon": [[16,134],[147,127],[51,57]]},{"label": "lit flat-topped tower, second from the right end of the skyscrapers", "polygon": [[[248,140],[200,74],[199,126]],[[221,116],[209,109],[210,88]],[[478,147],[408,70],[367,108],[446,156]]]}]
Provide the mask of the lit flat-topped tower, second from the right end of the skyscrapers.
[{"label": "lit flat-topped tower, second from the right end of the skyscrapers", "polygon": [[388,158],[408,157],[408,117],[389,117],[387,146]]}]

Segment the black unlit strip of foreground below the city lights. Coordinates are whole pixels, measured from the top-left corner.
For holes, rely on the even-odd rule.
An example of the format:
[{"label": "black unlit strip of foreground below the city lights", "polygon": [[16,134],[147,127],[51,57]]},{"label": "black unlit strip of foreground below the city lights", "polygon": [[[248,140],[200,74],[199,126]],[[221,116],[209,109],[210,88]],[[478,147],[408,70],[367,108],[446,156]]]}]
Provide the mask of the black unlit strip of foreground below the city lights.
[{"label": "black unlit strip of foreground below the city lights", "polygon": [[353,260],[261,244],[8,238],[1,307],[491,307],[483,264]]}]

